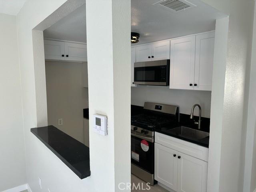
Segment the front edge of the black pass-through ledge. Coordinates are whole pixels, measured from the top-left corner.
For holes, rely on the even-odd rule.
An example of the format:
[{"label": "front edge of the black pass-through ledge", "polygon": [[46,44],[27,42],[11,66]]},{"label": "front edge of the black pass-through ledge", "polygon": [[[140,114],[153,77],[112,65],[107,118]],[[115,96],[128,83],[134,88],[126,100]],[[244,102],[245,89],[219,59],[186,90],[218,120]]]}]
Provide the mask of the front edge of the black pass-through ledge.
[{"label": "front edge of the black pass-through ledge", "polygon": [[32,132],[32,134],[34,134],[48,149],[50,149],[64,164],[66,164],[66,166],[68,166],[68,168],[70,168],[80,179],[84,179],[88,176],[91,175],[90,170],[88,170],[88,172],[85,173],[81,173],[79,172],[76,168],[74,168],[74,166],[72,166],[68,161],[66,161],[66,159],[64,159],[58,152],[56,152],[56,150],[54,150],[47,142],[45,142],[38,134],[36,134],[36,132],[34,132],[33,130],[34,128],[30,129],[30,132]]}]

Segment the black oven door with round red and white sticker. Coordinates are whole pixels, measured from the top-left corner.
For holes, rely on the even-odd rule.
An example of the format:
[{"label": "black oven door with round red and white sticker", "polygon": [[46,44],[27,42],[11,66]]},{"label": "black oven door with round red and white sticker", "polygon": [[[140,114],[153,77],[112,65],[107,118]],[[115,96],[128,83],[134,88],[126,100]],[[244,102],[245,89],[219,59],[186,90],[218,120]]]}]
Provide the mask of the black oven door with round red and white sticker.
[{"label": "black oven door with round red and white sticker", "polygon": [[154,174],[154,137],[131,133],[131,162]]}]

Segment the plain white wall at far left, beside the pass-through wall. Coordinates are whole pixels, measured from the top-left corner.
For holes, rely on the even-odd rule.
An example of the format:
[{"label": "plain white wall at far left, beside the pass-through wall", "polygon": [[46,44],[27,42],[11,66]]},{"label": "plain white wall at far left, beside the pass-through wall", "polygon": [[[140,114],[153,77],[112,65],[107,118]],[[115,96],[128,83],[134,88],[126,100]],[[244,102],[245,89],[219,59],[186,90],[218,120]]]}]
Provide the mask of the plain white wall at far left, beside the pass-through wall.
[{"label": "plain white wall at far left, beside the pass-through wall", "polygon": [[0,191],[26,183],[16,16],[0,14]]}]

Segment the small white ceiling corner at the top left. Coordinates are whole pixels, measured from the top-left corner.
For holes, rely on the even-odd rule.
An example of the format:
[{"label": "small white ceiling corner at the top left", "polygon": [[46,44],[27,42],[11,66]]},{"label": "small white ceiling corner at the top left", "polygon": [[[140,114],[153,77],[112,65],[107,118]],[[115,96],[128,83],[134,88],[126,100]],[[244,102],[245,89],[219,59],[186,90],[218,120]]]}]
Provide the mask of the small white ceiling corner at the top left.
[{"label": "small white ceiling corner at the top left", "polygon": [[0,0],[0,13],[17,15],[26,0]]}]

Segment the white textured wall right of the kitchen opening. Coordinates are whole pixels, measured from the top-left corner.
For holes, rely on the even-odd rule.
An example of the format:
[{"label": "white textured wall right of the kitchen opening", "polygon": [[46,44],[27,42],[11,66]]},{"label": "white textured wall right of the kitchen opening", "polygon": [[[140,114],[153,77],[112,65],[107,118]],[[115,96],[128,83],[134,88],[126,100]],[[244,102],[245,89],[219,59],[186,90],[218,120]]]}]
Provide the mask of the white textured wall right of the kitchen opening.
[{"label": "white textured wall right of the kitchen opening", "polygon": [[[248,68],[251,58],[254,1],[203,0],[203,2],[229,15],[227,49],[223,50],[224,45],[219,46],[217,48],[222,52],[216,49],[218,55],[214,55],[214,62],[217,65],[214,69],[216,73],[213,76],[213,85],[215,85],[213,90],[215,89],[216,92],[212,92],[212,104],[216,109],[211,111],[211,122],[221,121],[221,123],[216,124],[218,127],[214,124],[210,127],[209,157],[214,158],[214,161],[210,162],[209,159],[208,176],[211,175],[212,178],[208,179],[208,190],[216,192],[214,189],[217,188],[220,192],[241,192],[244,184],[248,77],[250,76]],[[226,32],[220,35],[226,36]],[[218,57],[223,58],[225,52],[226,59],[222,62]],[[222,69],[226,69],[226,72],[223,73]],[[219,155],[214,156],[212,152]],[[218,169],[219,173],[216,172]]]}]

